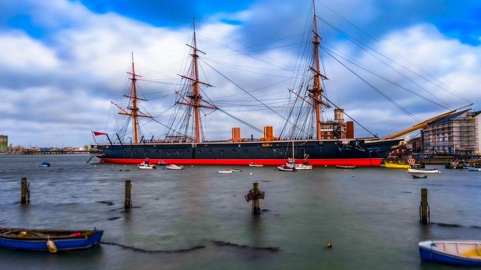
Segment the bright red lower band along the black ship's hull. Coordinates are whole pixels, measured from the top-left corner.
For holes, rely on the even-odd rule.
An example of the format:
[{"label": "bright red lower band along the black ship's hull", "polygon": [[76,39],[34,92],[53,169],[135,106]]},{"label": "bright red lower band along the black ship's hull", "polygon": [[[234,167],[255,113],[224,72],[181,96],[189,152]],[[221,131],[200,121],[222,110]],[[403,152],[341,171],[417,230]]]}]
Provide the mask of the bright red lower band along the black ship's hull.
[{"label": "bright red lower band along the black ship's hull", "polygon": [[[148,160],[158,163],[159,160],[167,164],[199,164],[199,165],[249,165],[254,162],[262,165],[283,165],[287,159],[140,159],[140,158],[101,158],[101,163],[140,164]],[[309,162],[314,166],[379,166],[382,158],[338,158],[338,159],[297,159],[297,163]]]}]

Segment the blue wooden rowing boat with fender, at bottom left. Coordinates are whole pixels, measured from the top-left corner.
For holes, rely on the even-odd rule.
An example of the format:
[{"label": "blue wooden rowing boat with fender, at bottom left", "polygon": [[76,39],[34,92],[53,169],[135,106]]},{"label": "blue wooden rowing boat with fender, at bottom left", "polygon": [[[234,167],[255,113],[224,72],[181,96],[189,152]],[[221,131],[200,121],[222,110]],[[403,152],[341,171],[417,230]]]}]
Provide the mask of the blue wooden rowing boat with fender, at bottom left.
[{"label": "blue wooden rowing boat with fender, at bottom left", "polygon": [[89,248],[102,239],[103,231],[30,230],[0,228],[0,247],[50,251]]}]

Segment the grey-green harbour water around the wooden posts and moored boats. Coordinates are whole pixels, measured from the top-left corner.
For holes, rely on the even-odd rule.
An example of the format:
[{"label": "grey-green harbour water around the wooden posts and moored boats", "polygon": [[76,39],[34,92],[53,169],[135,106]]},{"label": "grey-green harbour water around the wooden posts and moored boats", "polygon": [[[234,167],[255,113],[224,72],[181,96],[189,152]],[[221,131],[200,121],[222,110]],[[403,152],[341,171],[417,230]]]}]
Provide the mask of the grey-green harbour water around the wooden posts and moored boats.
[{"label": "grey-green harbour water around the wooden posts and moored boats", "polygon": [[[143,250],[205,248],[148,253],[102,244],[59,254],[0,249],[1,269],[459,269],[421,262],[417,243],[481,239],[481,173],[439,166],[441,174],[413,180],[404,169],[384,168],[290,173],[237,166],[241,173],[217,174],[227,167],[127,165],[130,172],[120,172],[123,165],[89,165],[87,159],[0,156],[0,226],[97,227],[105,231],[103,241]],[[40,167],[43,160],[52,167]],[[22,177],[31,182],[27,206],[19,204]],[[135,207],[127,212],[125,180],[132,180]],[[259,217],[244,199],[254,181],[266,192]],[[431,221],[460,227],[419,224],[423,187]]]}]

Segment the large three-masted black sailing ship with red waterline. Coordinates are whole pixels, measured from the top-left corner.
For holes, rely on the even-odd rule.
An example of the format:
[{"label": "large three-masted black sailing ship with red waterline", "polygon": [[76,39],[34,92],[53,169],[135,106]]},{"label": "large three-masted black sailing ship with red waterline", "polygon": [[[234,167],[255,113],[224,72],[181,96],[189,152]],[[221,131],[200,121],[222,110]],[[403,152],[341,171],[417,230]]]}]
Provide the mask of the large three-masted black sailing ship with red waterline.
[{"label": "large three-masted black sailing ship with red waterline", "polygon": [[[179,75],[179,80],[183,83],[176,91],[177,99],[174,104],[183,108],[179,110],[183,114],[175,115],[172,121],[160,122],[152,115],[141,112],[140,103],[146,99],[139,97],[137,93],[137,81],[141,80],[141,76],[136,73],[132,57],[131,69],[128,72],[130,87],[124,95],[128,105],[121,106],[112,102],[118,109],[118,114],[129,120],[132,138],[128,141],[125,134],[119,132],[95,132],[94,139],[95,135],[106,135],[107,143],[91,145],[91,155],[100,158],[100,162],[124,164],[139,164],[148,160],[150,163],[168,164],[282,165],[288,159],[295,159],[298,163],[314,166],[379,166],[384,157],[405,144],[406,140],[401,136],[407,134],[407,131],[384,138],[374,134],[372,137],[354,137],[354,122],[345,121],[344,110],[330,102],[324,94],[323,81],[328,78],[323,74],[319,53],[321,37],[318,33],[315,8],[313,9],[309,53],[305,54],[309,60],[306,60],[302,70],[304,77],[298,80],[295,88],[289,89],[294,100],[292,108],[287,111],[287,115],[282,116],[266,104],[269,110],[284,120],[282,136],[275,135],[273,126],[257,128],[227,113],[201,95],[204,94],[202,88],[211,85],[201,81],[199,77],[201,56],[205,53],[198,48],[194,21],[192,42],[186,44],[190,49],[188,69],[186,73]],[[253,101],[264,104],[252,94],[248,94]],[[323,121],[322,114],[326,108],[334,109],[334,120]],[[203,136],[202,120],[208,117],[208,114],[202,114],[201,110],[226,113],[257,130],[260,136],[242,138],[241,127],[233,127],[231,138],[207,141]],[[166,135],[155,139],[154,136],[141,136],[141,119],[157,121],[166,128]],[[188,134],[189,132],[191,134]]]}]

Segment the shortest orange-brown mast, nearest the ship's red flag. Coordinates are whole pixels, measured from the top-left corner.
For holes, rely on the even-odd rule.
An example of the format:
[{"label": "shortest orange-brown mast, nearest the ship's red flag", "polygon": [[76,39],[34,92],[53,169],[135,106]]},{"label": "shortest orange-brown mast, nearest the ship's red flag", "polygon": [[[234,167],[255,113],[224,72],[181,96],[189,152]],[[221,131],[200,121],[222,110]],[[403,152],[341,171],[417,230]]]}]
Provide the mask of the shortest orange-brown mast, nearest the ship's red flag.
[{"label": "shortest orange-brown mast, nearest the ship's red flag", "polygon": [[137,97],[137,77],[142,77],[140,75],[137,75],[135,73],[135,65],[134,65],[134,53],[132,53],[132,69],[131,72],[127,72],[130,74],[129,80],[131,80],[131,93],[130,95],[124,95],[125,97],[129,98],[132,100],[132,105],[127,106],[127,109],[124,109],[114,103],[113,101],[110,101],[110,103],[114,104],[117,106],[117,108],[120,109],[119,115],[126,115],[132,117],[132,131],[134,132],[134,143],[138,144],[138,134],[140,133],[140,128],[138,126],[138,118],[144,117],[144,118],[152,118],[150,115],[145,115],[141,112],[139,112],[138,108],[138,100],[143,100],[147,101],[146,99],[139,98]]}]

